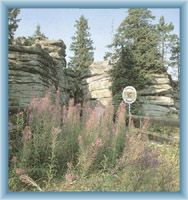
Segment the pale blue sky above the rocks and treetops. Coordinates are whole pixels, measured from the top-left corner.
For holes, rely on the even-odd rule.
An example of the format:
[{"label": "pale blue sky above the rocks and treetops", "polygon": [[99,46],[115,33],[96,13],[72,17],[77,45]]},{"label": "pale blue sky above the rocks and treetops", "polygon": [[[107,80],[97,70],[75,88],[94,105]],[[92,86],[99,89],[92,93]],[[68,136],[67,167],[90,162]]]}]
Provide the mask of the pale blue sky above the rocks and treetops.
[{"label": "pale blue sky above the rocks and treetops", "polygon": [[[173,9],[151,9],[156,16],[164,16],[167,23],[174,24],[174,33],[179,35],[180,10]],[[111,43],[113,33],[127,16],[127,9],[21,9],[19,17],[22,19],[16,31],[16,36],[31,36],[36,25],[40,24],[41,31],[49,39],[62,39],[67,46],[67,60],[72,55],[69,51],[71,37],[75,32],[75,20],[84,15],[88,19],[91,38],[94,42],[95,61],[103,60],[107,51],[107,45]]]}]

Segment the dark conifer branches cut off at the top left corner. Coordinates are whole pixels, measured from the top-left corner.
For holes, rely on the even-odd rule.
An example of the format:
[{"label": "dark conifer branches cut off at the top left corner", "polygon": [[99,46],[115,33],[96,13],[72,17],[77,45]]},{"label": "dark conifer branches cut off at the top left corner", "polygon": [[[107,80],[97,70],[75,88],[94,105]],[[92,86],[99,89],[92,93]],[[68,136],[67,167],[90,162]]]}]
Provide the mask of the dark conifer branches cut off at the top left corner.
[{"label": "dark conifer branches cut off at the top left corner", "polygon": [[12,44],[13,40],[14,40],[14,33],[18,28],[18,22],[21,19],[18,19],[18,15],[20,14],[20,9],[17,8],[12,8],[12,9],[8,9],[8,41],[9,44]]}]

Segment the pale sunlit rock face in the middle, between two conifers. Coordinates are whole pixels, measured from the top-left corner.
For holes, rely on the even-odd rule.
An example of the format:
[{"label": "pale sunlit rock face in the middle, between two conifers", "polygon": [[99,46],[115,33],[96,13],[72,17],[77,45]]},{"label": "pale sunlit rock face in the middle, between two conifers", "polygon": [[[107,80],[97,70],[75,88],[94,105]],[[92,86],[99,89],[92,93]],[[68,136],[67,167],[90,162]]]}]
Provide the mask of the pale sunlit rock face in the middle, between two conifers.
[{"label": "pale sunlit rock face in the middle, between two conifers", "polygon": [[107,61],[94,62],[90,65],[89,75],[86,79],[90,101],[98,101],[104,106],[112,103],[111,81],[108,74],[110,69],[111,66]]}]

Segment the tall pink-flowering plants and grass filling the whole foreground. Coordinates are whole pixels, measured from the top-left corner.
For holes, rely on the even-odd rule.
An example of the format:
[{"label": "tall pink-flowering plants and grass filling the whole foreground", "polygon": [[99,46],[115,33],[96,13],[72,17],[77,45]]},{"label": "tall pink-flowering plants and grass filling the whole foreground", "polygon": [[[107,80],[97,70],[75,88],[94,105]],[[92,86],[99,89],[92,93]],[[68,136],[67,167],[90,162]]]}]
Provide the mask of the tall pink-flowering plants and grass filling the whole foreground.
[{"label": "tall pink-flowering plants and grass filling the whole foreground", "polygon": [[[9,141],[11,191],[178,190],[177,146],[173,152],[151,146],[142,134],[147,122],[137,134],[128,133],[123,103],[114,122],[113,107],[81,108],[73,102],[62,107],[59,94],[55,101],[49,92],[34,98],[15,117],[17,132]],[[88,182],[91,177],[95,185]],[[56,182],[62,188],[53,186]]]}]

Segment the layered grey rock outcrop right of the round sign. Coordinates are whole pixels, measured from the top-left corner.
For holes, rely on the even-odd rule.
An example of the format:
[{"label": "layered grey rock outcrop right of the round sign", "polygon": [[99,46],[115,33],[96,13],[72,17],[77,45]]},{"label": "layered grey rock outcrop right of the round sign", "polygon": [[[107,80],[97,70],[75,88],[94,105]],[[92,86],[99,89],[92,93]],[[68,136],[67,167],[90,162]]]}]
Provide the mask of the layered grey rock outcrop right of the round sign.
[{"label": "layered grey rock outcrop right of the round sign", "polygon": [[174,90],[168,74],[150,74],[150,85],[139,91],[142,113],[149,116],[177,116]]}]

